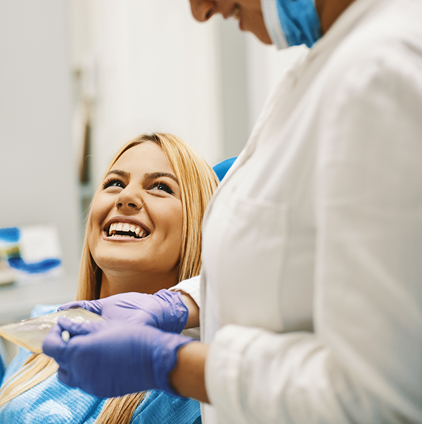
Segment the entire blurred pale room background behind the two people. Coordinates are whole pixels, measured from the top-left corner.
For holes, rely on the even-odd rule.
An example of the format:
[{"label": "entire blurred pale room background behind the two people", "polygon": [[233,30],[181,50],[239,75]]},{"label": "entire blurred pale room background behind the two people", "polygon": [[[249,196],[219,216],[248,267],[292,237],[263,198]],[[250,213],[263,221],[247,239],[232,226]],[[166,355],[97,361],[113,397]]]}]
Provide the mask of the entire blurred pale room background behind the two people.
[{"label": "entire blurred pale room background behind the two people", "polygon": [[0,0],[0,228],[56,228],[63,260],[0,285],[0,325],[75,296],[85,213],[118,147],[164,131],[210,165],[236,156],[295,53],[235,20],[199,24],[188,0]]}]

